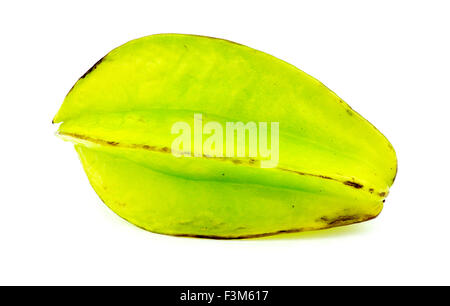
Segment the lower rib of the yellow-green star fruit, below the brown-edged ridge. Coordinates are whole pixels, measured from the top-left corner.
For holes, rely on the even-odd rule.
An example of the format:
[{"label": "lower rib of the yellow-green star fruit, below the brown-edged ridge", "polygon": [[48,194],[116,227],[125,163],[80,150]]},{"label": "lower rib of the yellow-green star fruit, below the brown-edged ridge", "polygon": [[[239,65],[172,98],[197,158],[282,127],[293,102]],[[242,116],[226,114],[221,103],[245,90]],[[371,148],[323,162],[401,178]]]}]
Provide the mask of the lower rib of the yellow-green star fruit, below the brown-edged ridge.
[{"label": "lower rib of the yellow-green star fruit, below the brown-edged ridge", "polygon": [[[258,237],[362,222],[376,217],[383,207],[379,199],[354,188],[339,189],[337,196],[331,190],[342,184],[314,177],[299,176],[296,180],[288,173],[270,176],[279,181],[289,179],[304,189],[270,186],[267,181],[233,182],[226,180],[233,176],[231,168],[239,167],[240,173],[245,170],[229,165],[218,168],[225,173],[222,181],[220,175],[217,179],[192,179],[149,168],[135,158],[119,157],[103,149],[84,145],[76,149],[103,202],[122,218],[156,233],[224,239]],[[130,177],[130,172],[135,175]]]}]

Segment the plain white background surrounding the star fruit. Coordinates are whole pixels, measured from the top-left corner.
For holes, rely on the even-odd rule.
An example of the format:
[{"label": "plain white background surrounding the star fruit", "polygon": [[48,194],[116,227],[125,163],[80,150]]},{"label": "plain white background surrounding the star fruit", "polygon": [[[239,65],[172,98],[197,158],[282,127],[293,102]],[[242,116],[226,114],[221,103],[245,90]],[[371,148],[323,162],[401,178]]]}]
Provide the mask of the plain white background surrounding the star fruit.
[{"label": "plain white background surrounding the star fruit", "polygon": [[[6,4],[8,3],[8,4]],[[0,284],[450,284],[448,1],[0,4]],[[399,160],[375,220],[269,239],[143,231],[97,197],[51,120],[111,49],[155,33],[226,38],[321,80]]]}]

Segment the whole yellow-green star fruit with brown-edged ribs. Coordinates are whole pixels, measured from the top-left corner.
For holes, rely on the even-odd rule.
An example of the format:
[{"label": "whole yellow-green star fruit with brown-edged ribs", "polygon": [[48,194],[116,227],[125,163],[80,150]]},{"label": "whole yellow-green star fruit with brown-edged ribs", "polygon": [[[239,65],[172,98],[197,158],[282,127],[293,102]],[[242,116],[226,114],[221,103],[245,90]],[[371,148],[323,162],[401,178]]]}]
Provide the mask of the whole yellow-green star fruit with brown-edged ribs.
[{"label": "whole yellow-green star fruit with brown-edged ribs", "polygon": [[[278,122],[278,163],[261,167],[259,151],[174,156],[172,127],[193,126],[195,114],[203,126]],[[153,35],[112,50],[54,122],[106,205],[170,235],[257,237],[365,221],[380,213],[397,170],[388,140],[322,83],[209,37]]]}]

